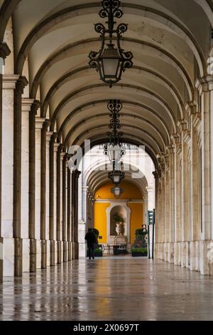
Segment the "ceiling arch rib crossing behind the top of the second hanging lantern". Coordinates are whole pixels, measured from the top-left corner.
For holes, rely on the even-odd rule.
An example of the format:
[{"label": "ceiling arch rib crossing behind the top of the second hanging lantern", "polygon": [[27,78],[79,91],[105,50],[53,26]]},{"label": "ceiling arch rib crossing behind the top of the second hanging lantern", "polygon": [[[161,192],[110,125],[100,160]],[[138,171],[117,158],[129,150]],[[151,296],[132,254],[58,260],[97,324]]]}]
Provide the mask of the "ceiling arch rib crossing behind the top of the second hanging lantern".
[{"label": "ceiling arch rib crossing behind the top of the second hanging lantern", "polygon": [[[61,140],[62,138],[62,131],[63,128],[65,127],[66,123],[75,115],[79,115],[80,112],[84,113],[84,110],[87,108],[94,108],[95,105],[103,105],[104,103],[109,103],[109,100],[99,100],[99,101],[94,101],[92,103],[86,103],[84,105],[80,105],[78,108],[76,108],[75,110],[73,110],[72,112],[70,112],[69,115],[67,115],[67,118],[65,118],[65,120],[63,121],[62,125],[60,126],[60,129],[58,130],[58,138],[59,140]],[[148,106],[143,105],[143,104],[139,104],[139,103],[135,103],[135,102],[131,102],[129,100],[122,100],[123,106],[125,105],[130,105],[130,109],[132,108],[132,106],[136,106],[138,108],[140,108],[140,110],[143,108],[143,110],[148,110],[148,112],[152,113],[153,115],[155,115],[156,118],[158,118],[158,120],[160,121],[160,125],[162,125],[162,128],[164,129],[167,137],[168,137],[168,141],[170,141],[170,134],[169,134],[169,129],[167,128],[167,125],[165,123],[165,120],[163,120],[163,118],[161,118],[161,116],[155,111],[152,110],[151,108],[148,108]],[[106,106],[107,109],[107,106]],[[97,115],[97,114],[96,114]],[[141,116],[140,115],[133,115],[133,117],[136,117],[140,120]],[[143,116],[144,117],[144,116]],[[146,120],[148,122],[150,122],[150,118],[146,118]]]}]

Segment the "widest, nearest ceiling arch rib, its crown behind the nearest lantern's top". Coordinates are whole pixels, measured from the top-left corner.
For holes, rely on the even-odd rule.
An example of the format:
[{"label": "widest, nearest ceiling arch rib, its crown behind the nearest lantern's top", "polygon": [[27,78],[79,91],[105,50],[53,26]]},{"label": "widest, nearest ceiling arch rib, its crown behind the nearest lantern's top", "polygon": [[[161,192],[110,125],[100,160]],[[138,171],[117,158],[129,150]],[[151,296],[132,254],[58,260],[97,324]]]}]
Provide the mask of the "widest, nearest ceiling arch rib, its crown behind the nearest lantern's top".
[{"label": "widest, nearest ceiling arch rib, its crown behind the nearest lantern's top", "polygon": [[[28,33],[28,36],[26,37],[25,41],[23,41],[23,44],[18,52],[16,60],[16,72],[22,73],[24,61],[26,59],[26,56],[28,56],[28,52],[31,46],[33,46],[35,41],[38,41],[38,39],[41,36],[43,36],[44,33],[52,29],[53,26],[55,26],[55,24],[59,24],[60,22],[65,21],[66,19],[70,19],[70,16],[73,15],[81,16],[82,13],[84,13],[85,9],[87,11],[87,14],[89,14],[90,12],[97,13],[97,8],[99,8],[99,6],[100,6],[99,3],[80,4],[78,6],[62,9],[62,11],[58,11],[57,13],[50,15],[49,17],[46,17],[45,20],[41,21],[37,26],[34,27],[34,29],[32,29],[30,33]],[[165,27],[167,29],[171,29],[171,31],[177,33],[178,36],[180,36],[191,48],[192,52],[194,53],[197,59],[201,76],[203,76],[204,74],[203,69],[205,68],[205,58],[202,53],[202,49],[200,48],[199,43],[197,43],[196,38],[193,36],[190,30],[187,29],[185,24],[181,24],[180,21],[175,20],[173,17],[169,16],[168,14],[165,14],[163,11],[158,11],[153,8],[141,6],[138,4],[126,4],[126,3],[124,3],[123,6],[126,14],[128,14],[128,12],[131,11],[131,9],[133,10],[137,9],[138,13],[142,11],[144,13],[144,16],[153,17],[155,21],[160,21],[160,24],[165,24]]]}]

